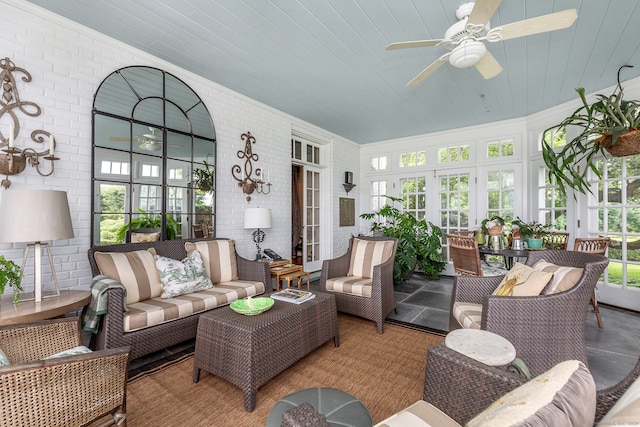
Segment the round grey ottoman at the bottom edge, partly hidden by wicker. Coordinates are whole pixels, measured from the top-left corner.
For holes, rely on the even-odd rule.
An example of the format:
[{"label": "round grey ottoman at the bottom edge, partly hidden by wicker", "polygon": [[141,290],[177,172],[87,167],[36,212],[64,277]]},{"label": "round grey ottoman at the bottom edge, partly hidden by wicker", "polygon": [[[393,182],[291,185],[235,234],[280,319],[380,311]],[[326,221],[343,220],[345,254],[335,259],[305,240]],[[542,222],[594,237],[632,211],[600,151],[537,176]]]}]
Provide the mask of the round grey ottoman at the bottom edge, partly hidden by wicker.
[{"label": "round grey ottoman at the bottom edge, partly hidden by wicker", "polygon": [[267,427],[280,427],[282,414],[308,402],[327,419],[330,425],[373,425],[373,418],[364,404],[349,393],[334,388],[315,387],[296,391],[278,400],[267,418]]}]

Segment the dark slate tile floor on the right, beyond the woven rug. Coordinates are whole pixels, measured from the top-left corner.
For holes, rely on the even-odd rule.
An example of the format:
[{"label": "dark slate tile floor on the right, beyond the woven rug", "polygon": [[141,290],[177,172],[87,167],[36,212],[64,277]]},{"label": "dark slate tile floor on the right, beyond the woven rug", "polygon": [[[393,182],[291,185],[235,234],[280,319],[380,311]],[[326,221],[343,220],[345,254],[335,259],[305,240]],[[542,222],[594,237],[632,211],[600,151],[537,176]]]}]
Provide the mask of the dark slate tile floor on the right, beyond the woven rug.
[{"label": "dark slate tile floor on the right, beyond the woven rug", "polygon": [[[429,280],[415,273],[396,287],[397,313],[390,319],[446,331],[453,277]],[[587,315],[587,358],[598,389],[616,384],[640,357],[640,313],[600,304],[603,329]]]}]

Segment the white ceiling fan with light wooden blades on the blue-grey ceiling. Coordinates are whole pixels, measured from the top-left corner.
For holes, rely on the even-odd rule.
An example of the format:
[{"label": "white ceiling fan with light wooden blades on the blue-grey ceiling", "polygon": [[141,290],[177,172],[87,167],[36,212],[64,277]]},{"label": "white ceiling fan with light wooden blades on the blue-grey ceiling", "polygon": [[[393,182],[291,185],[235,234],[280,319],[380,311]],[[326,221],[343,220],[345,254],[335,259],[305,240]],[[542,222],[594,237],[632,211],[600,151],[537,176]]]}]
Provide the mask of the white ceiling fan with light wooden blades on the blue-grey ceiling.
[{"label": "white ceiling fan with light wooden blades on the blue-grey ceiling", "polygon": [[456,10],[456,17],[459,21],[449,27],[444,33],[443,39],[415,40],[387,45],[387,50],[428,46],[444,46],[450,50],[415,76],[407,83],[407,86],[417,85],[447,61],[458,68],[475,65],[485,79],[490,79],[500,74],[502,67],[487,50],[483,41],[498,42],[561,30],[570,27],[578,18],[576,9],[566,9],[490,28],[489,20],[500,3],[502,0],[477,0],[475,3],[461,5]]}]

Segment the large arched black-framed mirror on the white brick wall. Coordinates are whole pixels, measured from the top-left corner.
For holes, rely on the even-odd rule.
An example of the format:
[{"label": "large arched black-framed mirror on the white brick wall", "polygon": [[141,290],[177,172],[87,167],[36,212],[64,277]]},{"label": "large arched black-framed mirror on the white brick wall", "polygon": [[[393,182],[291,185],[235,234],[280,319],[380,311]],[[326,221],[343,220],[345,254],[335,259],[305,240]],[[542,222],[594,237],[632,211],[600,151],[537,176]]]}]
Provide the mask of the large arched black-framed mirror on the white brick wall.
[{"label": "large arched black-framed mirror on the white brick wall", "polygon": [[131,66],[100,84],[93,102],[93,245],[213,237],[215,171],[213,121],[182,80]]}]

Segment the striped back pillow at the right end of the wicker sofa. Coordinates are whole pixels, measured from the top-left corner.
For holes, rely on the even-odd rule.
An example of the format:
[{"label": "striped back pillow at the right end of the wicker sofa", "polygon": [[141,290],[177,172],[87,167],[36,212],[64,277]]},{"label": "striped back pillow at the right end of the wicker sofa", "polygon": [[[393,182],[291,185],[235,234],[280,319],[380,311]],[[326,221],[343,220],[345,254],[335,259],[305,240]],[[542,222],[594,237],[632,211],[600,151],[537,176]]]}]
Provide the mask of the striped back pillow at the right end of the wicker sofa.
[{"label": "striped back pillow at the right end of the wicker sofa", "polygon": [[187,255],[198,250],[204,260],[209,278],[215,285],[220,282],[238,280],[236,246],[233,240],[207,240],[184,244]]}]

